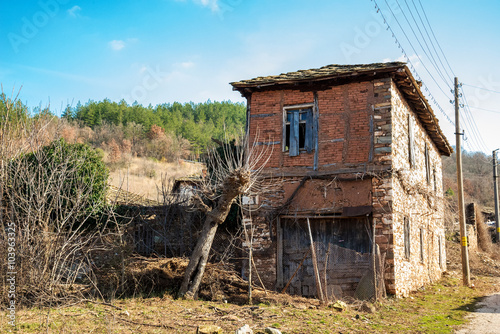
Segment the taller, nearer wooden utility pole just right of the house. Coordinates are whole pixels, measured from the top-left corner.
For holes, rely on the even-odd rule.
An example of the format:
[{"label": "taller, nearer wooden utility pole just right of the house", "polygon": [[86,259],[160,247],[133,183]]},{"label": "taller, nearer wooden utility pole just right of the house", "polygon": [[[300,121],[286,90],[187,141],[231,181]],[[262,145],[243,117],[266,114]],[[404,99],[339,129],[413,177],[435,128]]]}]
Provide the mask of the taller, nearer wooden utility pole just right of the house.
[{"label": "taller, nearer wooden utility pole just right of the house", "polygon": [[462,136],[460,133],[460,104],[458,103],[458,78],[455,77],[455,137],[457,150],[457,184],[458,184],[458,222],[462,244],[462,278],[465,286],[470,286],[469,249],[467,230],[465,229],[464,180],[462,176]]}]

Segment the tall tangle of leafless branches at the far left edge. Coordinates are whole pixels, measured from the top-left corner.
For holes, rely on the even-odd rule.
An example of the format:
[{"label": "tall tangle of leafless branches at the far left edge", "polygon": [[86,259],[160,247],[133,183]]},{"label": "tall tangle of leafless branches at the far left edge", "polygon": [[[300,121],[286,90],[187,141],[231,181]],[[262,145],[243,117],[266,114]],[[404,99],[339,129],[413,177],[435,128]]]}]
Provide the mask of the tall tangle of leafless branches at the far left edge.
[{"label": "tall tangle of leafless branches at the far left edge", "polygon": [[13,117],[23,106],[4,94],[0,104],[0,254],[9,254],[0,275],[15,282],[16,304],[50,304],[91,276],[98,232],[84,226],[102,205],[92,197],[96,178],[77,175],[88,164],[81,156],[42,149],[57,136],[54,118]]}]

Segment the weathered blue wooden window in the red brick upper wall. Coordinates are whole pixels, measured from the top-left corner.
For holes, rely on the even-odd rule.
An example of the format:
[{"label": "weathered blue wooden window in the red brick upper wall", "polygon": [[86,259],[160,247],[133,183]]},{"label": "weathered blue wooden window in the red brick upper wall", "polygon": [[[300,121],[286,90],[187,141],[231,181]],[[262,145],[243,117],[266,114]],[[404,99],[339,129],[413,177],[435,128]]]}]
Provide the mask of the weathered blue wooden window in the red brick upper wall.
[{"label": "weathered blue wooden window in the red brick upper wall", "polygon": [[310,153],[314,138],[312,105],[287,107],[284,117],[283,151],[289,151],[291,157],[299,155],[300,150]]}]

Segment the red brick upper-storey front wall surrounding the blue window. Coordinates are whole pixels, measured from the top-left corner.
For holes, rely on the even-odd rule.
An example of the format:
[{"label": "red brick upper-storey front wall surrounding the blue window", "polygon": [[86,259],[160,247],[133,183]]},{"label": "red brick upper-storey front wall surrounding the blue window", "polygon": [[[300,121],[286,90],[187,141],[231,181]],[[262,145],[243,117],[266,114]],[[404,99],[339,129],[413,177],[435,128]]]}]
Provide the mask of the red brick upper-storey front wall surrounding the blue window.
[{"label": "red brick upper-storey front wall surrounding the blue window", "polygon": [[275,90],[252,93],[250,99],[250,140],[274,144],[267,167],[312,167],[314,151],[301,151],[296,157],[283,152],[283,108],[314,103],[318,99],[319,169],[335,164],[370,162],[373,149],[373,82],[365,81],[334,86],[325,90]]}]

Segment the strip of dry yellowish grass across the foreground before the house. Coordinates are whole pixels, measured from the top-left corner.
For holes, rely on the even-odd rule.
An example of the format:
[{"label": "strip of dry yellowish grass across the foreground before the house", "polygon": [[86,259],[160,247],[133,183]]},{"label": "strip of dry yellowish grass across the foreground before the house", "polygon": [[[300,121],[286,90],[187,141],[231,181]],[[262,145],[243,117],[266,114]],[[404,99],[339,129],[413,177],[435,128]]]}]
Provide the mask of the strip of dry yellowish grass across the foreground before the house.
[{"label": "strip of dry yellowish grass across the foreground before the house", "polygon": [[[447,276],[407,299],[388,299],[370,308],[348,305],[339,312],[314,299],[283,295],[280,302],[238,305],[225,302],[176,300],[169,294],[120,299],[111,304],[83,301],[77,305],[17,312],[19,333],[195,333],[197,326],[214,324],[223,333],[249,324],[254,333],[265,327],[291,333],[453,333],[474,310],[474,303],[499,281],[481,279],[476,289],[460,286]],[[285,300],[286,299],[286,300]],[[373,310],[376,310],[374,313]],[[7,331],[0,316],[0,331]]]}]

